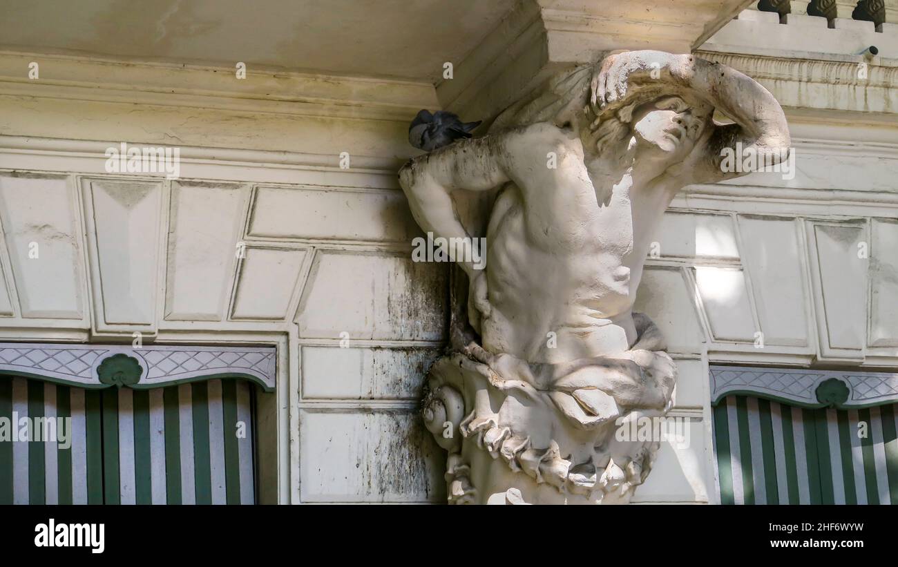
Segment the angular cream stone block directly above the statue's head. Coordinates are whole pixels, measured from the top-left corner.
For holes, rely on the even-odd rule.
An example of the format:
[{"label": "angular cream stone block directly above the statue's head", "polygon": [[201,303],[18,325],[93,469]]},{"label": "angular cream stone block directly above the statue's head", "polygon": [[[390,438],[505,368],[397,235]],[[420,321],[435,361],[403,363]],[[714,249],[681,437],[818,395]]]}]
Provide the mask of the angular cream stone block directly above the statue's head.
[{"label": "angular cream stone block directly above the statue's head", "polygon": [[436,85],[436,96],[444,109],[489,126],[499,111],[560,69],[594,62],[613,49],[689,52],[752,2],[524,0],[467,57],[453,62],[453,78]]}]

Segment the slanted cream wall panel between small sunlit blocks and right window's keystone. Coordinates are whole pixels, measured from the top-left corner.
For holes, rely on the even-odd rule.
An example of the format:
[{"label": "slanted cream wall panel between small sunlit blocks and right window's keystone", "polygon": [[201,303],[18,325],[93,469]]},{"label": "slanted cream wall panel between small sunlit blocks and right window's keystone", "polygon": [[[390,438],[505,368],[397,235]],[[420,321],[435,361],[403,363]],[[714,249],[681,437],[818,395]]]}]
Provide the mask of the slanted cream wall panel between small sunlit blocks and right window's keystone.
[{"label": "slanted cream wall panel between small sunlit blocks and right window's keystone", "polygon": [[739,215],[738,224],[764,344],[807,346],[808,286],[799,223]]}]

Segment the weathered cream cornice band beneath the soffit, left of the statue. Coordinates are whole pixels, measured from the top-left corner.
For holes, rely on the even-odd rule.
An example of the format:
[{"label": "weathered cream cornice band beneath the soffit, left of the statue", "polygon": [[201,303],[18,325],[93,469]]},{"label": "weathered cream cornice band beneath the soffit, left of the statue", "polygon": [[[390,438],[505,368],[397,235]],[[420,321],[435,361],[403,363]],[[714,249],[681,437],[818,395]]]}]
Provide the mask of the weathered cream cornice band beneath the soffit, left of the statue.
[{"label": "weathered cream cornice band beneath the soffit, left of the statue", "polygon": [[17,51],[0,51],[0,95],[399,122],[438,105],[426,82]]}]

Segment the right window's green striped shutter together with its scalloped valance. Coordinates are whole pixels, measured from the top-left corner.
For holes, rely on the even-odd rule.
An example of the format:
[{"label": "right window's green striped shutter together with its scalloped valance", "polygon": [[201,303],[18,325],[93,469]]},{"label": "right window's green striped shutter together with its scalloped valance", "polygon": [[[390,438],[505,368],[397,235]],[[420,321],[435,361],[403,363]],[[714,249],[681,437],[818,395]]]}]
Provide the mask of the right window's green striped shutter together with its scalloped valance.
[{"label": "right window's green striped shutter together with its scalloped valance", "polygon": [[725,504],[898,503],[898,374],[711,366]]}]

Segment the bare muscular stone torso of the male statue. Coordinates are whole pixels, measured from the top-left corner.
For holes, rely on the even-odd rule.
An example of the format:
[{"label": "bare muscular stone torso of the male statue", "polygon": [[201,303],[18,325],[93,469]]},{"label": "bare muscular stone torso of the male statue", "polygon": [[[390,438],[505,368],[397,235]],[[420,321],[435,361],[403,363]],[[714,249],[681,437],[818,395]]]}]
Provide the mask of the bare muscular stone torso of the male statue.
[{"label": "bare muscular stone torso of the male statue", "polygon": [[[583,154],[577,138],[560,151]],[[487,231],[491,310],[481,324],[488,350],[565,362],[635,341],[630,310],[650,246],[640,237],[671,195],[629,175],[612,188],[580,181],[550,188],[522,179],[497,197]]]}]

